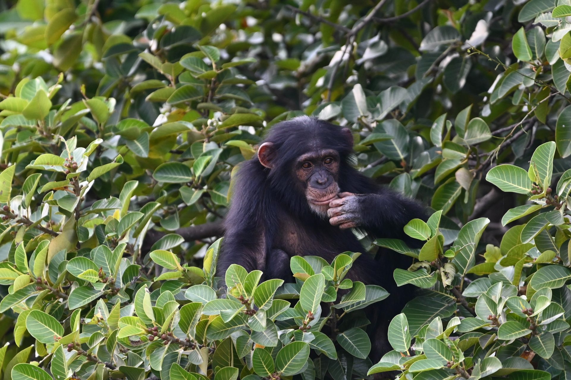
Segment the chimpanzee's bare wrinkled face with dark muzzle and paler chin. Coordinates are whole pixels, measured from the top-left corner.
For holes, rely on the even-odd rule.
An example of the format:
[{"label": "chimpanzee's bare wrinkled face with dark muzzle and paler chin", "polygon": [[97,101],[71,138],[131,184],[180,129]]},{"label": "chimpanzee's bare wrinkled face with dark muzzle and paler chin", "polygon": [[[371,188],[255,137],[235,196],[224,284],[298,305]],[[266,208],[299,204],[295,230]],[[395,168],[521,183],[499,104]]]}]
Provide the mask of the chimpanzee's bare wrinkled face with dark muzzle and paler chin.
[{"label": "chimpanzee's bare wrinkled face with dark muzzle and paler chin", "polygon": [[309,208],[327,218],[329,202],[339,193],[339,154],[332,149],[302,154],[296,160],[295,174],[305,187]]}]

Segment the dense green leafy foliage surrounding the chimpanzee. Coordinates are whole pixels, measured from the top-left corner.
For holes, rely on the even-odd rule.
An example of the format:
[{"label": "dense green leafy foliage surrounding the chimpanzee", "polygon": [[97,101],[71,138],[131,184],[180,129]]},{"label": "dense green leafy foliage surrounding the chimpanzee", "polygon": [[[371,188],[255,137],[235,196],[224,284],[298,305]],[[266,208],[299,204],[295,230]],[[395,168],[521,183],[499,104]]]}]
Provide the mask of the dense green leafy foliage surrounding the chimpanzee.
[{"label": "dense green leafy foliage surrounding the chimpanzee", "polygon": [[[569,378],[569,21],[569,0],[0,3],[3,378]],[[215,277],[232,170],[297,115],[433,208],[405,227],[420,250],[363,238],[419,288],[379,363],[363,308],[388,293],[344,278],[369,252]]]}]

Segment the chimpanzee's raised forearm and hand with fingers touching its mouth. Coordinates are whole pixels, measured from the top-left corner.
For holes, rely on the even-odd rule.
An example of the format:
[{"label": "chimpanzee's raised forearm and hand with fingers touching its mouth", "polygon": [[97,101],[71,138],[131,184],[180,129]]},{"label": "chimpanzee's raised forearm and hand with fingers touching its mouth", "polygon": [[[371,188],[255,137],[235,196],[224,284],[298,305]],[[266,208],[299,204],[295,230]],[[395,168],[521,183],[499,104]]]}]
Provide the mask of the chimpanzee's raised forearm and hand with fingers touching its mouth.
[{"label": "chimpanzee's raised forearm and hand with fingers touching its mouth", "polygon": [[373,194],[341,193],[329,203],[329,222],[340,228],[362,228],[376,238],[408,240],[403,227],[411,219],[426,220],[424,207],[392,190]]}]

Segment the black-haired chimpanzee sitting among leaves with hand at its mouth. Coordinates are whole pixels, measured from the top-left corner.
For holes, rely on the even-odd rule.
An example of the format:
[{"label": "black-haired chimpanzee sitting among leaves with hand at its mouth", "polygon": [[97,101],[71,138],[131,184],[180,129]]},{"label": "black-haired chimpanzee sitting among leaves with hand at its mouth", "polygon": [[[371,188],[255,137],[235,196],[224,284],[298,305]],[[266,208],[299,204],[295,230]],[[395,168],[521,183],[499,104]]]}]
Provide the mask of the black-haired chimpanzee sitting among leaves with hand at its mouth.
[{"label": "black-haired chimpanzee sitting among leaves with hand at its mouth", "polygon": [[[362,252],[351,228],[418,244],[403,227],[413,218],[426,220],[423,206],[376,185],[352,167],[353,157],[348,128],[307,116],[273,126],[258,156],[238,169],[218,275],[223,278],[235,263],[291,281],[291,256],[316,255],[331,263],[342,252]],[[371,321],[373,362],[391,350],[388,324],[414,297],[413,289],[397,289],[393,280],[395,268],[406,269],[411,258],[392,251],[377,256],[365,252],[348,273],[352,280],[391,293],[376,304],[377,317]]]}]

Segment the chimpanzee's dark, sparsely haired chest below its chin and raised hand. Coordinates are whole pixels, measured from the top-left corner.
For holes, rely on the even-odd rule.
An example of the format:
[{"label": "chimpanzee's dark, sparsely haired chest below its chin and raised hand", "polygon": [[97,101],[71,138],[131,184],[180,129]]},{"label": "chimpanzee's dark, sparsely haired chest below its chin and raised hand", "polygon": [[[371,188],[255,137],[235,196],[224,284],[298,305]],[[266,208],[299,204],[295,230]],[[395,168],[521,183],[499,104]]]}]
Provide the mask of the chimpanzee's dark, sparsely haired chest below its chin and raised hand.
[{"label": "chimpanzee's dark, sparsely haired chest below its chin and raised hand", "polygon": [[349,230],[340,230],[328,223],[308,226],[299,219],[288,216],[280,220],[272,249],[279,249],[289,256],[317,255],[324,258],[345,251],[363,251],[363,247]]}]

